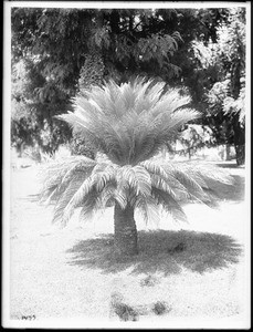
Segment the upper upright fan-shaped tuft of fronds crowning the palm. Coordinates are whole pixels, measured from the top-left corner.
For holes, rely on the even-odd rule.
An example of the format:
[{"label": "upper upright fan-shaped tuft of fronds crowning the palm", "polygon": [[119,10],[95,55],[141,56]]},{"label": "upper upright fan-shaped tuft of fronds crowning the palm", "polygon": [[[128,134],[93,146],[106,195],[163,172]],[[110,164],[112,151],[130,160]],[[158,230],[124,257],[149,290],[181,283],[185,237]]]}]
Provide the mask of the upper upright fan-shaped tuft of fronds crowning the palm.
[{"label": "upper upright fan-shaped tuft of fronds crowning the palm", "polygon": [[[188,96],[165,83],[137,79],[117,85],[109,81],[74,98],[75,112],[59,116],[78,127],[108,158],[118,165],[137,165],[154,156],[180,126],[199,113],[182,108]],[[162,94],[164,93],[164,94]]]}]

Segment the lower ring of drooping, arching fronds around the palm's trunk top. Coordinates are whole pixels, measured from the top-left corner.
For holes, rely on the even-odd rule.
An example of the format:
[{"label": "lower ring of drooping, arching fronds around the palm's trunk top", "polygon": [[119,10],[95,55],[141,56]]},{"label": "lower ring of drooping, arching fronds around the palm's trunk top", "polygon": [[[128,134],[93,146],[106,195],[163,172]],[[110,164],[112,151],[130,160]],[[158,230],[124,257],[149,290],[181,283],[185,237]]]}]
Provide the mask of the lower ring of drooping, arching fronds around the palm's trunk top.
[{"label": "lower ring of drooping, arching fronds around the palm's trunk top", "polygon": [[[50,175],[50,177],[49,177]],[[232,184],[232,178],[219,167],[200,163],[161,163],[145,160],[138,165],[119,166],[110,160],[94,162],[72,157],[48,166],[45,196],[56,203],[53,221],[64,225],[75,208],[87,219],[93,211],[117,201],[123,209],[129,204],[138,208],[145,220],[158,221],[161,205],[176,220],[186,221],[180,206],[190,199],[213,206],[211,184]]]}]

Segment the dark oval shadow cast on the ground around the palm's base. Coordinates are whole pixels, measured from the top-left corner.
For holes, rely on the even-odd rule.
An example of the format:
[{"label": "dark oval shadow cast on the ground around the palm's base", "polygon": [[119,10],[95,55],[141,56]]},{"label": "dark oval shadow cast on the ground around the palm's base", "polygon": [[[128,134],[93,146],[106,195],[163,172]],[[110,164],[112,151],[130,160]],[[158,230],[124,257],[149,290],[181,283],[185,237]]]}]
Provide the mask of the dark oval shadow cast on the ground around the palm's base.
[{"label": "dark oval shadow cast on the ground around the palm's base", "polygon": [[98,269],[104,273],[117,273],[129,268],[133,274],[170,274],[179,273],[182,267],[203,273],[236,263],[242,253],[241,246],[225,235],[156,230],[140,231],[138,236],[140,250],[135,257],[116,258],[113,235],[103,235],[82,240],[68,249],[68,263]]}]

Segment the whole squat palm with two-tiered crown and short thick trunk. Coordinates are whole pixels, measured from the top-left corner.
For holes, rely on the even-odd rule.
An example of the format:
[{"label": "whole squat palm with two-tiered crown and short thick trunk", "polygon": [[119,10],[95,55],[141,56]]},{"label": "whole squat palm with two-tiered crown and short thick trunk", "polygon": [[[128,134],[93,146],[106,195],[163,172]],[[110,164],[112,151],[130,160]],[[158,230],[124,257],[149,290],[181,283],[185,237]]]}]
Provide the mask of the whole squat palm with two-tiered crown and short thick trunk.
[{"label": "whole squat palm with two-tiered crown and short thick trunk", "polygon": [[210,183],[230,184],[220,168],[198,163],[160,162],[159,148],[199,114],[187,107],[189,96],[164,91],[165,83],[137,79],[117,85],[110,81],[77,95],[75,112],[63,114],[105,157],[72,156],[48,166],[43,197],[55,203],[54,221],[64,225],[75,208],[81,219],[114,206],[115,252],[138,252],[134,211],[158,219],[162,206],[177,220],[186,220],[182,199],[211,204]]}]

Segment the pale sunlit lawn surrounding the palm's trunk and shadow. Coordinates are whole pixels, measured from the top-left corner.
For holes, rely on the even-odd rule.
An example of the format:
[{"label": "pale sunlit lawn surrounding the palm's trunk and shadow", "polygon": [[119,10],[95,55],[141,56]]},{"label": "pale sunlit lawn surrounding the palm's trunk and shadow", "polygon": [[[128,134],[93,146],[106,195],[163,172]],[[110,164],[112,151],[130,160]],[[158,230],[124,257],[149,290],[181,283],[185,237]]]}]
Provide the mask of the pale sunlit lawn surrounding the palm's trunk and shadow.
[{"label": "pale sunlit lawn surrounding the palm's trunk and shadow", "polygon": [[[36,200],[38,167],[12,169],[10,318],[67,326],[212,326],[241,324],[247,313],[247,218],[244,169],[222,164],[235,187],[219,188],[219,209],[188,204],[189,224],[136,214],[140,253],[113,256],[113,210],[66,228]],[[31,320],[31,321],[29,321]],[[220,323],[219,323],[220,322]],[[222,323],[223,322],[223,323]],[[220,326],[220,325],[219,325]]]}]

